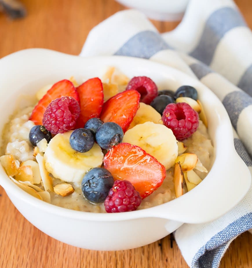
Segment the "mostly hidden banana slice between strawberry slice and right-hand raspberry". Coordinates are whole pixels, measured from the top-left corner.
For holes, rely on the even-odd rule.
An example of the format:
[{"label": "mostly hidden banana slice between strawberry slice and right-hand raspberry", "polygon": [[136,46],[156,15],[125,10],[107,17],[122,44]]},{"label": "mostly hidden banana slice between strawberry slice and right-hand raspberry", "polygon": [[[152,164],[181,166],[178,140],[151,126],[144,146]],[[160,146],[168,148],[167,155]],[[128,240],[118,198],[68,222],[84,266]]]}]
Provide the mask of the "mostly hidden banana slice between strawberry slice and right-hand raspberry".
[{"label": "mostly hidden banana slice between strawberry slice and right-hand raspberry", "polygon": [[128,130],[134,127],[135,125],[143,124],[145,122],[163,124],[161,114],[159,112],[157,112],[150,105],[140,102],[139,108],[136,112],[135,117],[133,118],[133,121],[129,125]]}]

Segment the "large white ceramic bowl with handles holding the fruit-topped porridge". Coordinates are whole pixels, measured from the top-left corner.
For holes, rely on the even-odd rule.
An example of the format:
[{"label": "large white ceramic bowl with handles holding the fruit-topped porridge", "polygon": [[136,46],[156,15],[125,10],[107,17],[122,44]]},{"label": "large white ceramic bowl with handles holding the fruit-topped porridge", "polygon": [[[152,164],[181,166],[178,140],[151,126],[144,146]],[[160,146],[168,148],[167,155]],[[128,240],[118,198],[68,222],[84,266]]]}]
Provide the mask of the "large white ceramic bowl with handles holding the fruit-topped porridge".
[{"label": "large white ceramic bowl with handles holding the fruit-topped porridge", "polygon": [[124,213],[90,213],[43,202],[21,190],[0,167],[0,184],[12,203],[34,226],[77,247],[121,250],[147,245],[176,230],[182,223],[204,223],[223,215],[244,197],[250,173],[233,145],[229,117],[219,99],[199,81],[168,66],[120,56],[81,58],[63,53],[28,49],[0,60],[0,132],[21,94],[34,95],[46,84],[74,75],[77,82],[101,76],[115,66],[129,77],[146,75],[160,89],[176,90],[189,84],[197,88],[209,122],[215,161],[196,188],[171,202]]}]

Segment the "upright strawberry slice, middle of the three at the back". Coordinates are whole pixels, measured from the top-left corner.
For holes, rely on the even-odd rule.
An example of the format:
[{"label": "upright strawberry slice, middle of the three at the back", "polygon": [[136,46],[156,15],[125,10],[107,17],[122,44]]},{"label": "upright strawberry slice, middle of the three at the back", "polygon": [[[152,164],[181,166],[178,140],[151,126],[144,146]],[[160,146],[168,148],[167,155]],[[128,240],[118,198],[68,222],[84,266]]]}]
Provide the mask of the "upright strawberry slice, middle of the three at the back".
[{"label": "upright strawberry slice, middle of the three at the back", "polygon": [[88,119],[99,117],[103,106],[103,86],[98,77],[91,78],[78,86],[80,96],[81,114],[76,128],[84,127]]}]

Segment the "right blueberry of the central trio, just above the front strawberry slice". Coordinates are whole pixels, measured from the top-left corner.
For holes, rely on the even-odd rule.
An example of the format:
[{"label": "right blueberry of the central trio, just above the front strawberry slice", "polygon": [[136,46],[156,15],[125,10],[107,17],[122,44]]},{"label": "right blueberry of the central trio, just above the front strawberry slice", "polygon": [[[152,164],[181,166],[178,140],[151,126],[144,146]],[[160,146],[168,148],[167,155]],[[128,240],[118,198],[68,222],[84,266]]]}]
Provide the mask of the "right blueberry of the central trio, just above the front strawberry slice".
[{"label": "right blueberry of the central trio, just above the front strawberry slice", "polygon": [[110,149],[123,140],[122,128],[114,123],[104,123],[95,135],[98,145],[103,149]]}]

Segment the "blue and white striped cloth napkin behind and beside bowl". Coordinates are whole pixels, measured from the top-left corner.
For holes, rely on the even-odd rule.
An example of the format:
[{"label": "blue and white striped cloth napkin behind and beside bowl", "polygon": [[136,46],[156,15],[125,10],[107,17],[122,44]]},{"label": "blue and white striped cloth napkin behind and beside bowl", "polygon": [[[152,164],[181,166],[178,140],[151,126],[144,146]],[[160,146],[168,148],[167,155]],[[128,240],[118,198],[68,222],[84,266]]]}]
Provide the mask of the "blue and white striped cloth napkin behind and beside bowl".
[{"label": "blue and white striped cloth napkin behind and beside bowl", "polygon": [[[197,77],[227,109],[235,149],[252,173],[252,34],[233,1],[191,0],[180,25],[162,35],[142,13],[118,12],[88,35],[81,56],[98,55],[146,58]],[[175,239],[190,267],[218,267],[231,241],[250,228],[252,187],[226,215],[184,224]]]}]

